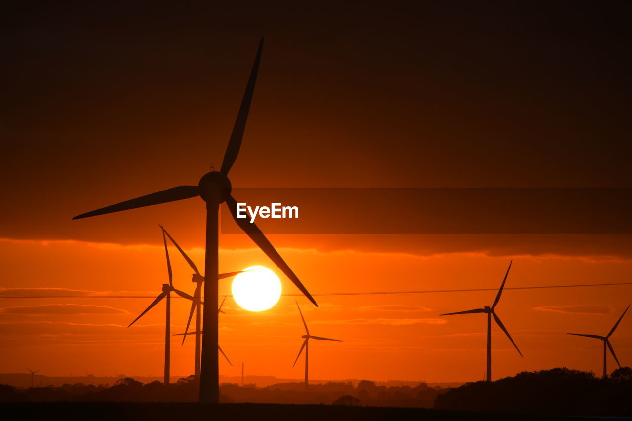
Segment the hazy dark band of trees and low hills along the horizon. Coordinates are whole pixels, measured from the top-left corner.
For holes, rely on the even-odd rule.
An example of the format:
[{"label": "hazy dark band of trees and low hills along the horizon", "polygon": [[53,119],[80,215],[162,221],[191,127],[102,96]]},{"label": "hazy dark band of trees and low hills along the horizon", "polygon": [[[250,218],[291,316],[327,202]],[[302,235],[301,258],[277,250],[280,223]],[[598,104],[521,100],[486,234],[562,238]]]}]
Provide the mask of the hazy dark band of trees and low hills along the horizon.
[{"label": "hazy dark band of trees and low hills along the horizon", "polygon": [[[78,404],[83,405],[83,403],[192,403],[198,399],[198,387],[197,378],[193,375],[168,385],[159,381],[143,384],[131,377],[119,379],[111,387],[64,384],[61,387],[20,389],[0,385],[0,402],[6,404],[28,403],[28,405],[42,402],[65,402],[71,411],[83,407],[78,406]],[[493,382],[471,382],[461,387],[446,389],[428,387],[423,382],[415,387],[387,387],[377,386],[375,382],[363,380],[356,387],[352,382],[327,382],[310,385],[307,392],[302,382],[280,383],[267,387],[257,387],[254,384],[239,386],[234,383],[222,383],[220,391],[221,403],[434,408],[441,410],[439,413],[468,412],[470,418],[482,417],[481,413],[504,413],[505,417],[507,413],[511,413],[512,418],[517,417],[516,414],[537,415],[538,417],[632,414],[632,403],[629,400],[629,396],[632,396],[632,369],[630,367],[614,370],[605,379],[595,377],[593,372],[557,368],[521,372],[514,377],[505,377]],[[35,407],[45,408],[46,406],[33,406],[33,408]],[[62,407],[51,406],[51,408]],[[279,417],[283,416],[286,411],[291,411],[283,409],[284,406],[262,407],[268,408],[270,414],[277,414]],[[315,407],[320,408],[320,406]],[[115,406],[103,406],[103,408],[115,408]],[[140,406],[130,406],[130,408],[140,408]],[[145,408],[163,407],[145,406]],[[191,411],[195,411],[198,406],[191,408]],[[248,408],[255,407],[248,406]],[[153,410],[150,409],[150,411]],[[315,413],[320,413],[322,417],[333,416],[330,413],[325,414],[322,412],[325,410],[322,409],[313,411],[315,412],[310,413],[310,416]],[[354,417],[359,414],[347,411],[340,409],[338,414],[347,413]],[[434,414],[434,412],[432,413]],[[387,416],[386,413],[382,413],[382,415]],[[426,416],[428,413],[394,411],[388,416],[399,417],[400,415],[406,418]],[[451,419],[449,417],[442,418],[444,415],[432,415],[432,417],[430,419]]]}]

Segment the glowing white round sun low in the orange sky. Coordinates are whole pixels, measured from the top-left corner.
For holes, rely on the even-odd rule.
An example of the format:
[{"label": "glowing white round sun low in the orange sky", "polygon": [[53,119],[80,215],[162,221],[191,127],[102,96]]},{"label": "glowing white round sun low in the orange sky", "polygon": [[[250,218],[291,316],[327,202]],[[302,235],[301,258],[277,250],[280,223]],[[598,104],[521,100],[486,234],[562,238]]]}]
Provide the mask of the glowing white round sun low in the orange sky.
[{"label": "glowing white round sun low in the orange sky", "polygon": [[233,298],[246,310],[260,312],[281,298],[279,277],[264,266],[250,266],[233,279]]}]

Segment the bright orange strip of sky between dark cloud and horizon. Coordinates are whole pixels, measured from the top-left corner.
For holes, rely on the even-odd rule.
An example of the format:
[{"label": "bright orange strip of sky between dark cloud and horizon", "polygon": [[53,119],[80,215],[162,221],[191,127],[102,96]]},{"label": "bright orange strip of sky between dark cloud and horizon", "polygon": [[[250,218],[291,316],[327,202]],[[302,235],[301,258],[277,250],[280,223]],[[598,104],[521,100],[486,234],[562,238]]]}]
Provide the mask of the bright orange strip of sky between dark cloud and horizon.
[{"label": "bright orange strip of sky between dark cloud and horizon", "polygon": [[[161,247],[4,240],[0,249],[5,257],[3,286],[9,288],[0,295],[105,295],[4,298],[0,312],[4,357],[0,362],[1,372],[37,365],[50,375],[161,373],[163,305],[128,329],[129,322],[151,299],[107,298],[107,295],[130,294],[119,291],[157,295],[166,281]],[[176,288],[191,293],[190,269],[175,254],[177,250],[171,252]],[[202,261],[202,249],[192,248],[188,252],[197,262]],[[475,253],[421,257],[292,248],[283,248],[281,252],[312,293],[497,288],[509,260]],[[629,260],[513,258],[508,287],[627,282],[632,269]],[[255,249],[221,251],[221,271],[254,264],[271,267],[269,260]],[[289,281],[281,279],[284,293],[297,292]],[[10,290],[52,286],[79,291]],[[229,283],[222,284],[220,290],[229,293]],[[498,314],[525,358],[520,358],[499,329],[494,328],[494,376],[560,365],[599,371],[600,343],[565,333],[607,333],[628,304],[631,290],[632,286],[610,286],[506,291],[497,307]],[[260,313],[248,312],[227,300],[220,334],[221,346],[229,358],[233,362],[246,362],[249,374],[300,378],[300,364],[295,369],[291,367],[303,334],[295,299],[283,297],[274,308]],[[313,334],[344,340],[312,346],[312,377],[480,379],[485,367],[485,317],[439,317],[439,314],[490,305],[493,299],[493,291],[320,296],[317,297],[320,308],[313,308],[305,298],[298,298]],[[183,329],[187,311],[184,300],[174,300],[174,332]],[[623,364],[632,359],[629,320],[623,320],[612,343]],[[180,347],[179,340],[174,339],[172,346],[172,372],[189,374],[193,341]],[[609,363],[614,367],[614,361]],[[221,374],[238,372],[238,367],[221,362]]]}]

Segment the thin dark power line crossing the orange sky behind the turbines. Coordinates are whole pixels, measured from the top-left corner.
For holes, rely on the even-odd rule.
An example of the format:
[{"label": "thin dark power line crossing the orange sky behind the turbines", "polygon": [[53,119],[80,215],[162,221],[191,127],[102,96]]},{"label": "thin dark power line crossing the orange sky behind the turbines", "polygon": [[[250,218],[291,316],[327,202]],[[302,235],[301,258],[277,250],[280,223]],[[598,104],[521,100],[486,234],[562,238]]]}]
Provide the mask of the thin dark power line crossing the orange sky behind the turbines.
[{"label": "thin dark power line crossing the orange sky behind the turbines", "polygon": [[[632,282],[608,283],[608,284],[575,284],[575,285],[544,285],[544,286],[513,286],[504,290],[543,290],[548,288],[584,288],[591,286],[616,286],[632,285]],[[497,291],[498,288],[468,288],[463,290],[419,290],[419,291],[364,291],[364,292],[343,292],[343,293],[316,293],[313,296],[337,296],[337,295],[389,295],[389,294],[428,294],[428,293],[451,293],[451,292],[474,292],[474,291]],[[232,294],[222,294],[219,296],[230,296]],[[303,296],[303,294],[281,294],[281,296]],[[155,298],[154,295],[5,295],[0,298]],[[183,298],[174,295],[171,298]],[[202,297],[204,298],[204,297]]]}]

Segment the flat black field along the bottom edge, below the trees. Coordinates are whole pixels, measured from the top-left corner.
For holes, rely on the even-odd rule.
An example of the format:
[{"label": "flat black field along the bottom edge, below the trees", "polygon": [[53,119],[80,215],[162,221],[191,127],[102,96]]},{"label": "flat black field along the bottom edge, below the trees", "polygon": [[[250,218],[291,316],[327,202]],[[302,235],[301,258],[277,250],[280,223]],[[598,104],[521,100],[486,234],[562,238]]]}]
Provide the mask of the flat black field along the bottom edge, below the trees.
[{"label": "flat black field along the bottom edge, below the trees", "polygon": [[[134,403],[52,402],[3,403],[4,413],[27,420],[573,420],[580,417],[549,417],[514,413],[481,413],[382,408],[374,406],[281,405],[264,403]],[[16,418],[13,418],[16,419]],[[586,419],[586,417],[581,417]]]}]

